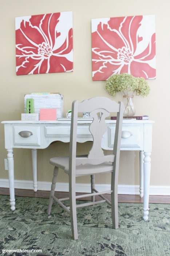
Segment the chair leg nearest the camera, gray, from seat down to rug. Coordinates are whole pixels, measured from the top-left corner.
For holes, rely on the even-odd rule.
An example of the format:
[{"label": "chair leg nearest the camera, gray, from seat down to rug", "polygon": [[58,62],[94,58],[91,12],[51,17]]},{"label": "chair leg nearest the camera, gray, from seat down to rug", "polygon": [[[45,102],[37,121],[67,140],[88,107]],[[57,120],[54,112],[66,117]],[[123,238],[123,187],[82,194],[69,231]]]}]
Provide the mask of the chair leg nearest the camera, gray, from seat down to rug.
[{"label": "chair leg nearest the camera, gray, from seat down to rug", "polygon": [[72,237],[74,240],[78,239],[78,227],[77,227],[77,214],[76,214],[76,183],[75,178],[69,176],[69,193],[70,193],[70,218]]}]

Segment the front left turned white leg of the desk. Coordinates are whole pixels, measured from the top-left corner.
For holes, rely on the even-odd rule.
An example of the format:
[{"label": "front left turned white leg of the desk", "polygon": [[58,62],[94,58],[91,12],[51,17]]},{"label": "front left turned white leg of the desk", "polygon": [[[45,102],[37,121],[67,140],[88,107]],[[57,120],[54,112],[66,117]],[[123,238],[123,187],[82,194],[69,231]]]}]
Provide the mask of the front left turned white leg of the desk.
[{"label": "front left turned white leg of the desk", "polygon": [[15,210],[15,190],[14,190],[14,165],[13,165],[13,149],[7,149],[7,161],[8,161],[8,177],[9,177],[9,193],[11,210]]}]

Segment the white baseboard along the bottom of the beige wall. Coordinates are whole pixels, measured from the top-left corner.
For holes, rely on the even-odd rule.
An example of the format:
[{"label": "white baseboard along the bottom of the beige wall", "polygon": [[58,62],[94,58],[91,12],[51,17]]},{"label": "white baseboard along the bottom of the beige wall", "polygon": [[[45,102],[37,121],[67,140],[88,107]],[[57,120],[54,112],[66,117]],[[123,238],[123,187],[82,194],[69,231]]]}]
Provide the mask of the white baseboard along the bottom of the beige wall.
[{"label": "white baseboard along the bottom of the beige wall", "polygon": [[[96,189],[100,191],[110,190],[110,184],[96,184]],[[0,179],[0,188],[9,188],[8,179]],[[31,180],[15,180],[15,188],[33,189]],[[38,181],[38,190],[50,191],[51,182]],[[57,182],[56,191],[68,192],[68,183]],[[76,183],[76,192],[91,192],[91,184]],[[139,195],[139,185],[118,185],[118,194]],[[150,195],[170,195],[170,186],[150,186]]]}]

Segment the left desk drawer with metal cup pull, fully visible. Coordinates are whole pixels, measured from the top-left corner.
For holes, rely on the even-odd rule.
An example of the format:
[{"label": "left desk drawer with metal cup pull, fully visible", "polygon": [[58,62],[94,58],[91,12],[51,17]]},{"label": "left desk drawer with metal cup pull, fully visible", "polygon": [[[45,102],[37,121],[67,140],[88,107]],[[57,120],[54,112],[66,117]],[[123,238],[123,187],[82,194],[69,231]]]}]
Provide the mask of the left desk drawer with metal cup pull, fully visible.
[{"label": "left desk drawer with metal cup pull, fully visible", "polygon": [[14,145],[40,146],[40,127],[14,126],[13,143]]}]

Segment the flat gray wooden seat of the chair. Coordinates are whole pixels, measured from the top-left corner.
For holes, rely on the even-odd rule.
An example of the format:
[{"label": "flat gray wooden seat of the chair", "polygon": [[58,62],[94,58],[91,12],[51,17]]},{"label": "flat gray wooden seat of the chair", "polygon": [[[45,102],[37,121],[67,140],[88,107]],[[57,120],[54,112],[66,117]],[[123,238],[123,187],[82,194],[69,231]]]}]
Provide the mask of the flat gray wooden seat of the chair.
[{"label": "flat gray wooden seat of the chair", "polygon": [[[50,163],[56,167],[64,170],[65,173],[69,172],[69,157],[54,157],[50,159]],[[104,162],[100,165],[78,165],[76,166],[76,176],[88,175],[95,173],[105,173],[113,171],[113,163]]]}]

